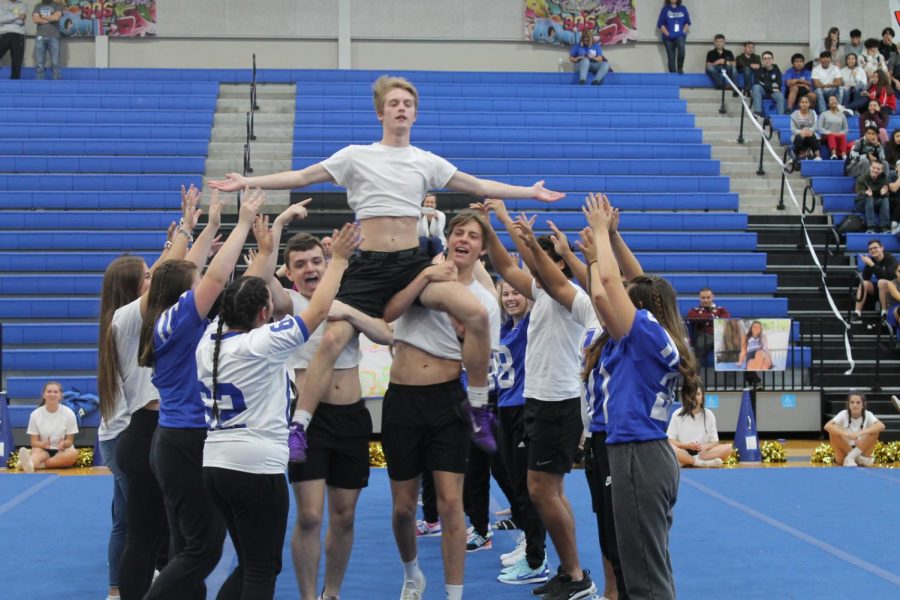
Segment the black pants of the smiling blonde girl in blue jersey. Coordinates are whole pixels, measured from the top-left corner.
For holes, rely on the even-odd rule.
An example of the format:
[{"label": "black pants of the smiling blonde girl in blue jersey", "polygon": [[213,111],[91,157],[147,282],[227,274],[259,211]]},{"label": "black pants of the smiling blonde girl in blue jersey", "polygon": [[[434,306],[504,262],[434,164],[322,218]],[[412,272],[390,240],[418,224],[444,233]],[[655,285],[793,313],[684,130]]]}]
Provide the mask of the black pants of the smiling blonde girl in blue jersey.
[{"label": "black pants of the smiling blonde girl in blue jersey", "polygon": [[[523,444],[525,437],[525,406],[500,407],[499,452],[509,473],[517,507],[513,518],[525,532],[525,558],[528,565],[536,569],[544,562],[547,544],[547,528],[528,495],[528,448]],[[514,509],[516,510],[516,509]]]}]

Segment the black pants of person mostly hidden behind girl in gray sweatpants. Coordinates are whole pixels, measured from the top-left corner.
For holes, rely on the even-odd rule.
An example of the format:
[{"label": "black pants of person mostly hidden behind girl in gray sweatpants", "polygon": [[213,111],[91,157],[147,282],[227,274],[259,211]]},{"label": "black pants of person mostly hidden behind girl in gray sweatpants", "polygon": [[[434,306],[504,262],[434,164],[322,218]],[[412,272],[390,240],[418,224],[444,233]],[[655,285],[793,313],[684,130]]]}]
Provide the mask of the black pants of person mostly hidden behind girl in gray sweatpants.
[{"label": "black pants of person mostly hidden behind girl in gray sweatpants", "polygon": [[584,444],[584,476],[591,490],[591,504],[597,517],[597,532],[600,537],[600,552],[612,564],[616,576],[616,589],[620,600],[628,600],[625,590],[625,576],[619,561],[619,546],[616,539],[616,521],[612,512],[612,487],[607,484],[612,476],[609,471],[609,455],[606,452],[606,433],[598,431]]}]

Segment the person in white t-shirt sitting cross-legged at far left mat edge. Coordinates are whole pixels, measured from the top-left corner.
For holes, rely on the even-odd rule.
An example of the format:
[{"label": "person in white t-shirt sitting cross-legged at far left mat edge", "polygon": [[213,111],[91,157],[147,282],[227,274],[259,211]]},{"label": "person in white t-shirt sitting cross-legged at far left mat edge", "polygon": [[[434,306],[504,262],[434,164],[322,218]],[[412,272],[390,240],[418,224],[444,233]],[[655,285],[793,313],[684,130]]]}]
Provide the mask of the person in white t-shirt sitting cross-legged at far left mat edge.
[{"label": "person in white t-shirt sitting cross-legged at far left mat edge", "polygon": [[78,460],[75,434],[78,423],[75,413],[62,405],[62,386],[48,381],[41,390],[41,403],[28,417],[31,450],[19,450],[19,468],[26,473],[38,469],[63,469]]}]

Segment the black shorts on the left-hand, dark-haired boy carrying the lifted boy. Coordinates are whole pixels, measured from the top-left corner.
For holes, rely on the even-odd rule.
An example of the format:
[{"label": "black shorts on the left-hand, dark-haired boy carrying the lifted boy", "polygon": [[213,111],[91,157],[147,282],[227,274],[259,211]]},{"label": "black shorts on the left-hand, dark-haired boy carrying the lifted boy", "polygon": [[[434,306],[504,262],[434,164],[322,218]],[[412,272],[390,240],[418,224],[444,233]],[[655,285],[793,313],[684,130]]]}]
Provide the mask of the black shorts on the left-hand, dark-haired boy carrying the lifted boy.
[{"label": "black shorts on the left-hand, dark-haired boy carrying the lifted boy", "polygon": [[371,435],[372,417],[365,401],[320,403],[306,431],[306,462],[288,463],[288,481],[324,479],[327,485],[345,490],[368,486]]}]

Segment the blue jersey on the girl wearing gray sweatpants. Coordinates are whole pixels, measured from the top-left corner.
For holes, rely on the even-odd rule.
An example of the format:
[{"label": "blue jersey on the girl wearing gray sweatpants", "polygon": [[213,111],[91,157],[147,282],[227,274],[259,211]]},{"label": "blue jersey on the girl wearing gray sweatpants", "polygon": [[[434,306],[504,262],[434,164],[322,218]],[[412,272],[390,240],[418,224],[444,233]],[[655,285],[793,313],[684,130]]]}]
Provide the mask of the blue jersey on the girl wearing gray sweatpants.
[{"label": "blue jersey on the girl wearing gray sweatpants", "polygon": [[656,318],[637,311],[628,335],[603,347],[591,431],[602,431],[602,416],[608,444],[666,439],[680,360],[675,342]]}]

